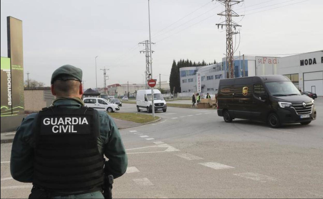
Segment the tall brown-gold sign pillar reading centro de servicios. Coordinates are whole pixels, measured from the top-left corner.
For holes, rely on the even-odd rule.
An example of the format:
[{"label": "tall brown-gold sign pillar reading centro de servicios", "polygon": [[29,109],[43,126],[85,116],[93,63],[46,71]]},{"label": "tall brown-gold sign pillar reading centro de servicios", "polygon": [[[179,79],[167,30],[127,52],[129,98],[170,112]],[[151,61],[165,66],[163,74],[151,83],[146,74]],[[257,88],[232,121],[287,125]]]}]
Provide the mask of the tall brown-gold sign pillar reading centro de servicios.
[{"label": "tall brown-gold sign pillar reading centro de servicios", "polygon": [[8,57],[11,62],[12,114],[25,114],[22,21],[7,17]]}]

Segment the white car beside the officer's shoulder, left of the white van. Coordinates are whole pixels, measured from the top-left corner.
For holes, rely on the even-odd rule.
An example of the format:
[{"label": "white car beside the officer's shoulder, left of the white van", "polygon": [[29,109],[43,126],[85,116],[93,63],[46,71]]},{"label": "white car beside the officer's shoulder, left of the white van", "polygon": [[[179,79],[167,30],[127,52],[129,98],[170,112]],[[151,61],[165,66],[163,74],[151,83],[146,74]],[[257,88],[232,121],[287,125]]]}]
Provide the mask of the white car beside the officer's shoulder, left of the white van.
[{"label": "white car beside the officer's shoulder, left of the white van", "polygon": [[86,97],[83,99],[85,106],[92,107],[98,111],[107,111],[109,113],[119,111],[117,104],[112,104],[108,100],[99,97]]}]

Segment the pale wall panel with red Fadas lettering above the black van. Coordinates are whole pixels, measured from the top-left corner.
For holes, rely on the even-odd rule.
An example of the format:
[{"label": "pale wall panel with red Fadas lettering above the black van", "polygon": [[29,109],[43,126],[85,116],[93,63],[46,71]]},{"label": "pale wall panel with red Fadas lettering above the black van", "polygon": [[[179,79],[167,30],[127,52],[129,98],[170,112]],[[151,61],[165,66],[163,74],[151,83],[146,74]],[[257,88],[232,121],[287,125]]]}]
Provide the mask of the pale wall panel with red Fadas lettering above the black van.
[{"label": "pale wall panel with red Fadas lettering above the black van", "polygon": [[278,57],[256,57],[256,75],[277,75]]}]

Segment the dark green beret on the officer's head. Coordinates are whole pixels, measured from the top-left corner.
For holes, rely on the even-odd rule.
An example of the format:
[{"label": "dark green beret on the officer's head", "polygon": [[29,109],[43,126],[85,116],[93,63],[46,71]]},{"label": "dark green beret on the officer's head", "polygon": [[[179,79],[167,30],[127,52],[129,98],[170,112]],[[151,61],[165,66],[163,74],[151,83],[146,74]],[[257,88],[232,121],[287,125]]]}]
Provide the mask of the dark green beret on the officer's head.
[{"label": "dark green beret on the officer's head", "polygon": [[50,84],[54,84],[55,80],[77,80],[82,82],[82,70],[72,66],[72,65],[63,65],[57,68],[50,80]]}]

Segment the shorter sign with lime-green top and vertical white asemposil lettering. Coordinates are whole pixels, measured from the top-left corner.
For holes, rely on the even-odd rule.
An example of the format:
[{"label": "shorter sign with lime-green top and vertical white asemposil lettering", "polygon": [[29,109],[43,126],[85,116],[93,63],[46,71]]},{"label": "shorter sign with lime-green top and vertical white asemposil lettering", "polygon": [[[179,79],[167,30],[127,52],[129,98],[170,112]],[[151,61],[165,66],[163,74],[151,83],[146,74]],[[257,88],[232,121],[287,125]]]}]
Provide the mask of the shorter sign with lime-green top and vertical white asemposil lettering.
[{"label": "shorter sign with lime-green top and vertical white asemposil lettering", "polygon": [[1,116],[12,114],[10,58],[1,57]]}]

